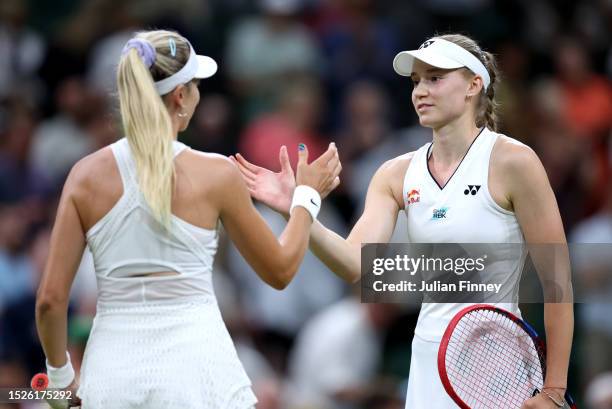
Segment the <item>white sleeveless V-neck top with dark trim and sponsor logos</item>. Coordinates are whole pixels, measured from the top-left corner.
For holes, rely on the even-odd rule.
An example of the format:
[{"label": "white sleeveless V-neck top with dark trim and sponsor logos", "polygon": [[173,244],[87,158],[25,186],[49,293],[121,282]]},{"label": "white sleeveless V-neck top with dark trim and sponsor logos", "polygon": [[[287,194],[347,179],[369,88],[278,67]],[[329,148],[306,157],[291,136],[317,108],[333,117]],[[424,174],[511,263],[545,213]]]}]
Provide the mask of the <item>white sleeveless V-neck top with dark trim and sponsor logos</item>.
[{"label": "white sleeveless V-neck top with dark trim and sponsor logos", "polygon": [[[489,162],[497,138],[484,128],[443,187],[427,166],[432,143],[414,153],[403,187],[409,243],[524,243],[515,214],[499,206],[489,192]],[[511,298],[515,302],[497,305],[519,315],[518,282],[526,255],[521,247],[518,257],[516,251],[496,255],[516,287]],[[467,305],[423,303],[415,334],[439,341],[452,317]]]}]

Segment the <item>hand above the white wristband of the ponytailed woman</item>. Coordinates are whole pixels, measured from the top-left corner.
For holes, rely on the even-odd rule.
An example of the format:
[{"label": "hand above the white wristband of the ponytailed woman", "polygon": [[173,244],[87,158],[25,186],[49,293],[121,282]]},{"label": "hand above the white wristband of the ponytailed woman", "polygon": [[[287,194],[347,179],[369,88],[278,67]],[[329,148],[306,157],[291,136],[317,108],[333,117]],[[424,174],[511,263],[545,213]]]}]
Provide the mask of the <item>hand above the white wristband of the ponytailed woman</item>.
[{"label": "hand above the white wristband of the ponytailed woman", "polygon": [[308,163],[308,147],[299,145],[296,184],[310,186],[324,198],[338,186],[342,165],[338,157],[338,149],[334,143],[330,143],[327,151]]}]

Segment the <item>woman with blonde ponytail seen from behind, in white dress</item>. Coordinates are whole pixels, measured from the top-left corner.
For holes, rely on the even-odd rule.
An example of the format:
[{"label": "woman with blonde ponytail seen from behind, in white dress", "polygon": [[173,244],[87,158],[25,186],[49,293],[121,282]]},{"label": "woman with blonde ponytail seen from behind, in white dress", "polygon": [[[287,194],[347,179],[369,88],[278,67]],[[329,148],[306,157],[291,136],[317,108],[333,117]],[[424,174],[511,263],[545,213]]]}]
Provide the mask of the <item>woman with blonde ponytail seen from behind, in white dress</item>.
[{"label": "woman with blonde ponytail seen from behind, in white dress", "polygon": [[[199,80],[216,70],[174,32],[137,34],[117,73],[125,138],[68,176],[36,322],[49,387],[76,392],[72,404],[246,409],[257,402],[213,292],[218,224],[261,279],[284,288],[306,252],[321,198],[339,183],[340,162],[333,144],[310,164],[300,146],[295,209],[277,239],[228,158],[176,140],[199,102]],[[66,312],[85,245],[98,304],[77,381]]]}]

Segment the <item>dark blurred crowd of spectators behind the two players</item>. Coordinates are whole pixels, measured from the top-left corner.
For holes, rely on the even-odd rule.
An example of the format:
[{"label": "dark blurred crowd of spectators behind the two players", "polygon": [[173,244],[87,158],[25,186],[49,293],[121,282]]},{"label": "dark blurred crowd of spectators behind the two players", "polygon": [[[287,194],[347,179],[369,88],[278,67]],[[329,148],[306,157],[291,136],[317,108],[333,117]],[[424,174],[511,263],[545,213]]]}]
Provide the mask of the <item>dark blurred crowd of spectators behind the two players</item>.
[{"label": "dark blurred crowd of spectators behind the two players", "polygon": [[[300,142],[313,157],[336,142],[342,184],[321,219],[342,235],[376,168],[431,138],[393,57],[468,34],[497,55],[501,131],[538,153],[568,239],[612,243],[610,0],[1,0],[0,387],[44,368],[35,292],[58,197],[75,162],[121,137],[114,65],[144,28],[177,30],[219,63],[179,136],[192,148],[278,169],[281,145],[295,162]],[[585,408],[612,408],[611,265],[608,251],[574,266],[592,301],[576,306],[570,372]],[[214,279],[258,409],[403,408],[418,305],[362,304],[312,255],[278,292],[225,239]],[[96,303],[87,252],[71,300],[78,367]],[[543,333],[542,306],[523,311]]]}]

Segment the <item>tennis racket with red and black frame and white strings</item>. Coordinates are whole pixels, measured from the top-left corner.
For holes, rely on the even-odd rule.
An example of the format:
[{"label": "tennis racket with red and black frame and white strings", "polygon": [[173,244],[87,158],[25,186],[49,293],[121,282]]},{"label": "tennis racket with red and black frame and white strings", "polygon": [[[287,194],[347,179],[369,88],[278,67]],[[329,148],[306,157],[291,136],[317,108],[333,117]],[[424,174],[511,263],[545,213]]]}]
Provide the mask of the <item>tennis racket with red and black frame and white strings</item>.
[{"label": "tennis racket with red and black frame and white strings", "polygon": [[[518,409],[542,390],[546,346],[529,324],[510,312],[472,305],[446,328],[438,372],[444,389],[462,409]],[[567,393],[565,400],[566,408],[576,409]]]}]

